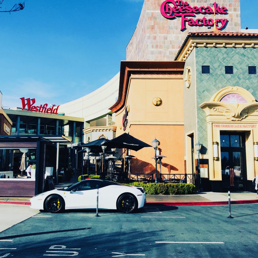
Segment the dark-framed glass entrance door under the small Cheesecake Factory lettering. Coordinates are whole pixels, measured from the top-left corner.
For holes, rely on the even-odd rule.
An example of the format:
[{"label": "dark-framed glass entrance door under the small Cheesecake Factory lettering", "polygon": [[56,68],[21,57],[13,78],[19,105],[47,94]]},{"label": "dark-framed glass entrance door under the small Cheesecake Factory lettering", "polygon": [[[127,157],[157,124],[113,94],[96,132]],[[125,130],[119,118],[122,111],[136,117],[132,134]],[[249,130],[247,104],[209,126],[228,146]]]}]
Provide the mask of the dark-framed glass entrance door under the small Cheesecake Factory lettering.
[{"label": "dark-framed glass entrance door under the small Cheesecake Factory lettering", "polygon": [[244,190],[247,180],[244,133],[221,133],[221,174],[224,190]]}]

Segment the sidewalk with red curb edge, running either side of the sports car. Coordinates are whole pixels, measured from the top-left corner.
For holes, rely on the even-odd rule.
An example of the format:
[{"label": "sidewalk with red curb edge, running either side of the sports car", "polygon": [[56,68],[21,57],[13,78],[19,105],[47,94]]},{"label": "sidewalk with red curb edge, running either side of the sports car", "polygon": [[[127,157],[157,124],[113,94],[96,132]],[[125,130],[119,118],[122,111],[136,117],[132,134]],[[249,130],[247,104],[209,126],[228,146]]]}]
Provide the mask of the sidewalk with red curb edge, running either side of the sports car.
[{"label": "sidewalk with red curb edge, running either side of the sports car", "polygon": [[[258,203],[256,193],[231,192],[231,204]],[[147,195],[147,206],[227,205],[228,193],[200,192],[193,195]],[[0,204],[30,205],[28,197],[0,197]]]}]

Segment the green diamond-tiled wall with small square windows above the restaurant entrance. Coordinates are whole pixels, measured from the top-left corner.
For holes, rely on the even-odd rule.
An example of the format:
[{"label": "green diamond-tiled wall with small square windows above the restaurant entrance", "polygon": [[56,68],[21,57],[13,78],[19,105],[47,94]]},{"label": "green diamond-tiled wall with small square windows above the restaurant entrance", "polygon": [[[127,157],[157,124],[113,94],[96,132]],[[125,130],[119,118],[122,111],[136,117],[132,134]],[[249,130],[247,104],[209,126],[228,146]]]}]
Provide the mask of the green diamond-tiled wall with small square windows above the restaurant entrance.
[{"label": "green diamond-tiled wall with small square windows above the restaurant entrance", "polygon": [[[202,74],[201,66],[209,65],[210,74]],[[233,66],[234,74],[225,74],[225,66]],[[196,95],[198,140],[207,148],[207,122],[199,105],[220,89],[240,86],[258,99],[258,75],[248,74],[248,66],[258,67],[258,49],[253,48],[196,48]]]}]

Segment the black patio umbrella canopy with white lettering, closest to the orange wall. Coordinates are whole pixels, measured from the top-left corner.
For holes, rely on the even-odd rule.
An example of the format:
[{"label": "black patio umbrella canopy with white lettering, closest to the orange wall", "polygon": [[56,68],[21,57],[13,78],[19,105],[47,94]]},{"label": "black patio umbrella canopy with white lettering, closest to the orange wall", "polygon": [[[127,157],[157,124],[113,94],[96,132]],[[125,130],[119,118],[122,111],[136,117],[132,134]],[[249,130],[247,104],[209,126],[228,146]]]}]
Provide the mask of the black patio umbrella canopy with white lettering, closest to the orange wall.
[{"label": "black patio umbrella canopy with white lettering, closest to the orange wall", "polygon": [[107,148],[118,148],[118,149],[125,148],[125,149],[130,149],[135,151],[138,151],[144,147],[152,147],[148,143],[145,143],[128,133],[123,133],[108,142],[102,143],[101,145],[107,146]]}]

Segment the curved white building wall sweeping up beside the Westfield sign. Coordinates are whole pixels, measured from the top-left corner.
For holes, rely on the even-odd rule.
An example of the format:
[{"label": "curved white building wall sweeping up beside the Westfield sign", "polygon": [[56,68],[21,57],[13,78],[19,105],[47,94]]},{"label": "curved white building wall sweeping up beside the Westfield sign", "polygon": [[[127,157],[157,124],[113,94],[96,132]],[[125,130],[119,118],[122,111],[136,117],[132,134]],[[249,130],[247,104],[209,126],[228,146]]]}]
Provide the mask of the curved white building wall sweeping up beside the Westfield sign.
[{"label": "curved white building wall sweeping up beside the Westfield sign", "polygon": [[82,98],[60,105],[59,112],[66,116],[83,117],[85,121],[104,116],[118,97],[120,72],[106,84]]}]

